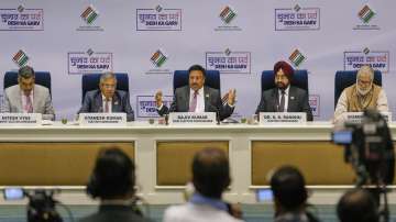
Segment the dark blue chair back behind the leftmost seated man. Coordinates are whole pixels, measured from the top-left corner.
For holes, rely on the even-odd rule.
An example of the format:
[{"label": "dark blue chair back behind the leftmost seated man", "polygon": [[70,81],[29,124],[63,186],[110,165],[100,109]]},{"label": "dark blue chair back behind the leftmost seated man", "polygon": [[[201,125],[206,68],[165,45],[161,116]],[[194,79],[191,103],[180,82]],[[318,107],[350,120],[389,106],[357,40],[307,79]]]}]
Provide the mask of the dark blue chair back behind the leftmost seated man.
[{"label": "dark blue chair back behind the leftmost seated man", "polygon": [[[51,93],[51,74],[50,71],[35,71],[35,84],[46,87],[50,90],[50,95]],[[4,74],[4,82],[3,82],[3,87],[4,89],[12,87],[14,85],[18,85],[18,71],[7,71]]]}]

